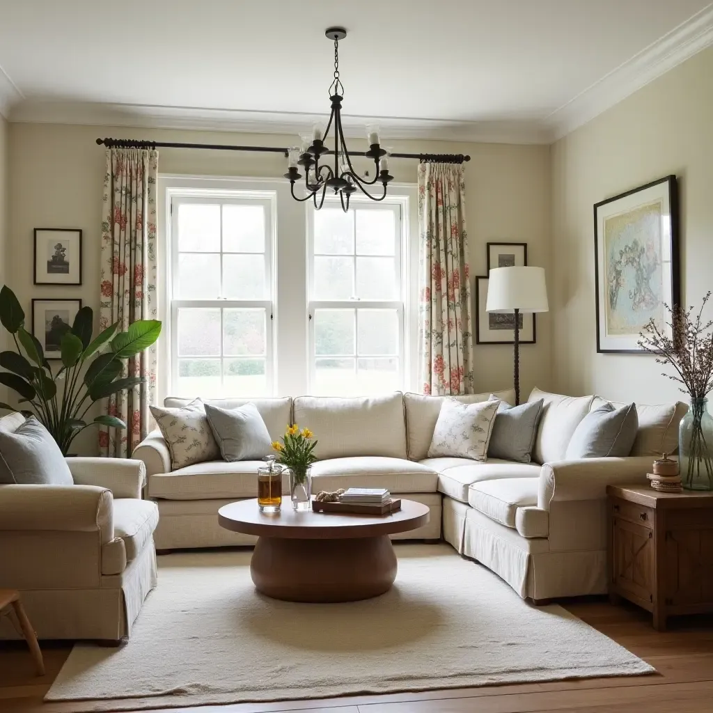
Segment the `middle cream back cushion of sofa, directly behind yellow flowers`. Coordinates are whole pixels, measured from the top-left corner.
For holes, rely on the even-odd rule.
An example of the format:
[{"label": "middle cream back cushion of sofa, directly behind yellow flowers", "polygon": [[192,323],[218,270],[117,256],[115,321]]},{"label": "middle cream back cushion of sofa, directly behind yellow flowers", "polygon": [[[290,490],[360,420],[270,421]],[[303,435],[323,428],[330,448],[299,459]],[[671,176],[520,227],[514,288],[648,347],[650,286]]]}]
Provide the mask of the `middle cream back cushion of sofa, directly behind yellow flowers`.
[{"label": "middle cream back cushion of sofa, directly behind yellow flowers", "polygon": [[404,396],[339,398],[298,396],[294,423],[307,426],[317,438],[319,460],[349,456],[406,458]]}]

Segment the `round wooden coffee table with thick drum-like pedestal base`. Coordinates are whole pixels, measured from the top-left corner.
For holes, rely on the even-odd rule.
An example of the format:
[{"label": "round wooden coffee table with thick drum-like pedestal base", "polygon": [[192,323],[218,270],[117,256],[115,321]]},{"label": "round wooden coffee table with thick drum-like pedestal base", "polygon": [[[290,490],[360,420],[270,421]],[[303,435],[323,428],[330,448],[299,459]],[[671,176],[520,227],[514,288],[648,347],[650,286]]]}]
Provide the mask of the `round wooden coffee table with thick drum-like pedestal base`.
[{"label": "round wooden coffee table with thick drum-like pedestal base", "polygon": [[226,530],[257,535],[250,576],[257,590],[290,602],[353,602],[388,592],[396,579],[389,535],[429,521],[429,508],[401,500],[391,515],[261,513],[257,500],[218,511]]}]

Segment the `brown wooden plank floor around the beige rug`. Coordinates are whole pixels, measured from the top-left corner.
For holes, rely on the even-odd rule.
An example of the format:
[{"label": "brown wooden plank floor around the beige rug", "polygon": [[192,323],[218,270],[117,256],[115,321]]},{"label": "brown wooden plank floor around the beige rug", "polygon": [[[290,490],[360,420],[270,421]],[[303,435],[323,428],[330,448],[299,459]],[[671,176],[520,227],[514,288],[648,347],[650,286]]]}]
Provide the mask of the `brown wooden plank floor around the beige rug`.
[{"label": "brown wooden plank floor around the beige rug", "polygon": [[[481,688],[359,696],[339,699],[234,704],[169,709],[165,713],[702,713],[713,712],[713,617],[681,617],[670,631],[655,632],[650,615],[626,602],[565,603],[566,608],[603,634],[642,657],[659,674],[517,684]],[[68,656],[66,645],[43,645],[46,675],[36,678],[21,645],[0,644],[2,713],[69,712],[71,704],[43,704]],[[434,665],[438,665],[434,661]]]}]

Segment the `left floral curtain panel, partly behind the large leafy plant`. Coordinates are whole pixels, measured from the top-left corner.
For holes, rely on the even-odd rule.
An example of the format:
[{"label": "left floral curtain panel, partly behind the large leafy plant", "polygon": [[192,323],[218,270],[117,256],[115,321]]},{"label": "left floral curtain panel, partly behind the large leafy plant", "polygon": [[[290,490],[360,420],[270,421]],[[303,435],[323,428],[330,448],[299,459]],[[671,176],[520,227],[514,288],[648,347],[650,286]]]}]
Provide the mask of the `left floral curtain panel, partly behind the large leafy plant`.
[{"label": "left floral curtain panel, partly behind the large leafy plant", "polygon": [[[125,331],[137,319],[156,319],[156,178],[158,152],[112,148],[106,152],[101,223],[99,326],[119,322]],[[102,456],[130,457],[148,433],[156,384],[156,347],[128,359],[123,376],[145,376],[145,384],[104,402],[126,430],[99,431]]]}]

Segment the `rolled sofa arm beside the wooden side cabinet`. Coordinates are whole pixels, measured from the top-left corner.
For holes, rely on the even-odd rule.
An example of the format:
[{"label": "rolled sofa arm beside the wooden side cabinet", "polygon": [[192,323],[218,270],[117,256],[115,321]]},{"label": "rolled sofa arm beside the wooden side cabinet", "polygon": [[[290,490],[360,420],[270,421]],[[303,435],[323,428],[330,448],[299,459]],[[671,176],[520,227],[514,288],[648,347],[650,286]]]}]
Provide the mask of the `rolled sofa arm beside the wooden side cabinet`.
[{"label": "rolled sofa arm beside the wooden side cabinet", "polygon": [[538,508],[549,510],[552,501],[606,498],[609,485],[645,484],[651,468],[651,456],[545,463],[540,471]]}]

